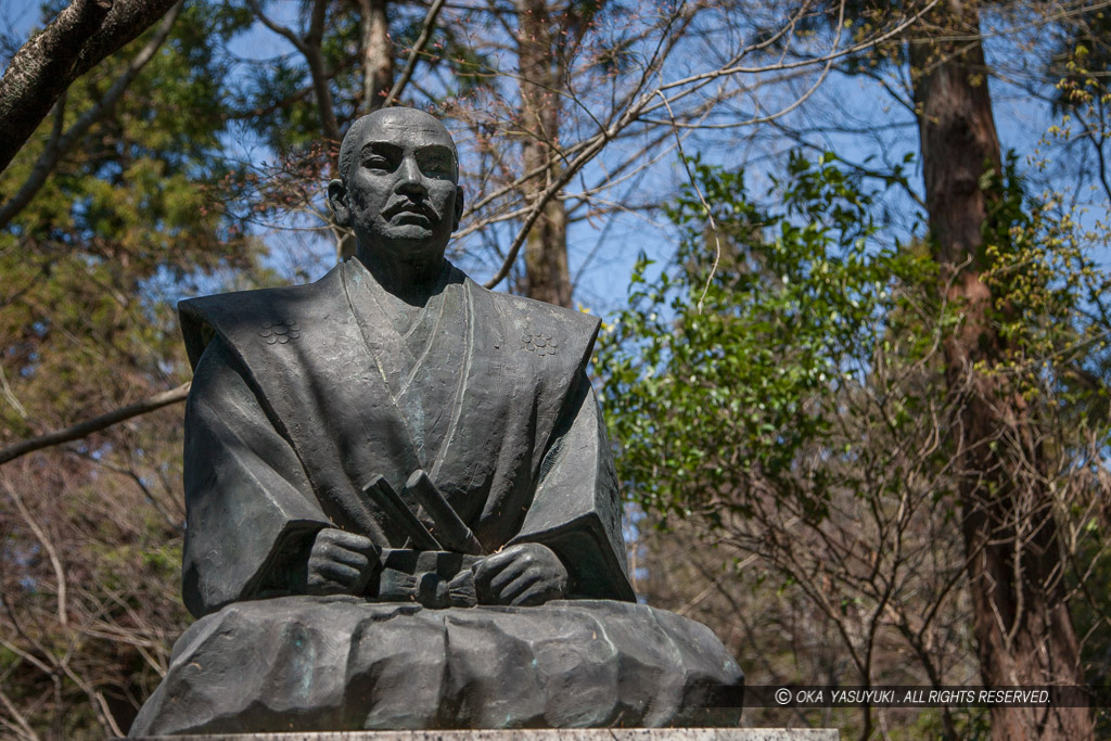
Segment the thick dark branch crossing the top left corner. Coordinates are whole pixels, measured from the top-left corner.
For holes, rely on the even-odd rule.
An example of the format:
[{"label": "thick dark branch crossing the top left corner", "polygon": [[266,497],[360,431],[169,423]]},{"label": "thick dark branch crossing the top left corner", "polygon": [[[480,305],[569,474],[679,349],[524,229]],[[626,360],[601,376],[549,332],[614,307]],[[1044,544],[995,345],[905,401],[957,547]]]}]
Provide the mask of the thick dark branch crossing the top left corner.
[{"label": "thick dark branch crossing the top left corner", "polygon": [[137,38],[177,0],[73,0],[24,43],[0,79],[0,171],[77,78]]}]

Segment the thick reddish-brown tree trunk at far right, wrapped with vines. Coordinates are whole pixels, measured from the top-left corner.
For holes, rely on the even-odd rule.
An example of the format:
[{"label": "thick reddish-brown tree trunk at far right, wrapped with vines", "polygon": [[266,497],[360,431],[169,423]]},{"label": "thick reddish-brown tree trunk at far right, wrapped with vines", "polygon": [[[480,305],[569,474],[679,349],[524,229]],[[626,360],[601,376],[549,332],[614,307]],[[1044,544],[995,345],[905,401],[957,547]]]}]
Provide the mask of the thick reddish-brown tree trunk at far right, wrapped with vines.
[{"label": "thick reddish-brown tree trunk at far right, wrapped with vines", "polygon": [[[998,297],[984,282],[982,230],[991,196],[985,170],[1001,167],[975,0],[947,0],[934,38],[910,47],[919,110],[927,210],[948,299],[963,307],[944,353],[983,682],[1083,684],[1077,634],[1064,599],[1065,569],[1044,455],[1012,374],[992,373],[1011,348],[997,332]],[[993,739],[1089,739],[1087,708],[991,709]]]}]

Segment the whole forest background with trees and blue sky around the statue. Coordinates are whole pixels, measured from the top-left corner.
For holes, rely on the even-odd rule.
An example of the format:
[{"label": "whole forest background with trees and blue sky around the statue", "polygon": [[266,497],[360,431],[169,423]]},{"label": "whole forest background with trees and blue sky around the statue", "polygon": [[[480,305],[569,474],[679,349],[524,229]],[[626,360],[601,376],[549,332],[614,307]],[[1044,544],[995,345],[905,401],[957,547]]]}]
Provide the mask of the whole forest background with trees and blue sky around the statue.
[{"label": "whole forest background with trees and blue sky around the statue", "polygon": [[0,733],[121,734],[158,683],[189,622],[174,304],[349,256],[322,187],[397,103],[460,144],[451,259],[605,320],[638,594],[750,684],[1105,692],[1109,6],[0,6]]}]

